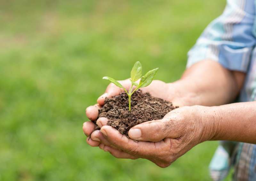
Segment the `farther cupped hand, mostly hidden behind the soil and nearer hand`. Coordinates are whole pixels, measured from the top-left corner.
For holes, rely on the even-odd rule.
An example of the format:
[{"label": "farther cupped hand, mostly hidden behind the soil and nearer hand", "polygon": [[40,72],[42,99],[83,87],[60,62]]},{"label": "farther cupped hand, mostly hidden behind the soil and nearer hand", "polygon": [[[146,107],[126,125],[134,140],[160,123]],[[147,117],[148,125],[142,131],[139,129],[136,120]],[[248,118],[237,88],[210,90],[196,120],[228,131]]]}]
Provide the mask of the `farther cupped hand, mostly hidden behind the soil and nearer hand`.
[{"label": "farther cupped hand, mostly hidden behind the soil and nearer hand", "polygon": [[[129,90],[129,86],[131,86],[131,82],[129,79],[119,81],[126,90]],[[171,101],[173,105],[179,105],[182,106],[182,102],[180,101],[181,99],[177,96],[179,93],[176,91],[175,86],[172,83],[164,83],[159,80],[154,80],[152,83],[144,88],[141,88],[142,92],[149,92],[152,96],[162,98],[164,100]],[[86,115],[87,117],[95,121],[98,117],[98,109],[104,105],[104,100],[106,97],[114,97],[116,95],[119,95],[121,92],[124,92],[123,89],[117,87],[113,83],[110,83],[105,91],[105,93],[100,96],[97,100],[98,104],[89,106],[86,109]],[[175,96],[174,96],[175,95]],[[94,123],[92,122],[85,122],[83,126],[84,134],[89,136],[93,129],[94,129]],[[99,131],[97,131],[98,133]],[[98,133],[101,134],[101,133]],[[87,140],[87,143],[91,146],[99,146],[100,142],[95,141],[92,139]]]}]

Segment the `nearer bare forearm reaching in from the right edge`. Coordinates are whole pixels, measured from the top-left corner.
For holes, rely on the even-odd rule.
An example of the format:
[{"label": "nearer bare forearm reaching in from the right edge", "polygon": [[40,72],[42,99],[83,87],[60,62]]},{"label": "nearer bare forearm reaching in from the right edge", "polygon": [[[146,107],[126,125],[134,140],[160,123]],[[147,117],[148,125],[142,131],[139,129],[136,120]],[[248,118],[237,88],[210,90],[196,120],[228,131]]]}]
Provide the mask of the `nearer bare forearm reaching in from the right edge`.
[{"label": "nearer bare forearm reaching in from the right edge", "polygon": [[209,107],[209,140],[229,140],[256,144],[256,101]]}]

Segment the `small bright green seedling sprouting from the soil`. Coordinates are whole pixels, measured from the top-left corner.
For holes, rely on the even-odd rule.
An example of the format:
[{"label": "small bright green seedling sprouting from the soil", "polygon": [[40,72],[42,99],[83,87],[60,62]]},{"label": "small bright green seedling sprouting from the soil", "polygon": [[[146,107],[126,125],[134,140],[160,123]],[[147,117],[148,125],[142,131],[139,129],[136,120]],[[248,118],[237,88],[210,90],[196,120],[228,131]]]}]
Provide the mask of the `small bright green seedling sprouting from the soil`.
[{"label": "small bright green seedling sprouting from the soil", "polygon": [[[130,81],[131,81],[132,85],[131,85],[129,92],[124,88],[124,86],[121,83],[117,82],[115,79],[113,79],[111,77],[103,77],[102,79],[108,80],[108,81],[114,83],[117,87],[124,89],[124,91],[126,92],[126,94],[128,95],[128,98],[129,98],[129,111],[131,111],[131,96],[132,96],[132,94],[139,88],[147,87],[155,78],[157,70],[158,70],[158,68],[150,70],[144,76],[142,76],[141,63],[136,62],[131,71]],[[140,83],[139,84],[135,83],[139,79],[140,79]],[[137,87],[132,91],[133,85],[135,85]]]}]

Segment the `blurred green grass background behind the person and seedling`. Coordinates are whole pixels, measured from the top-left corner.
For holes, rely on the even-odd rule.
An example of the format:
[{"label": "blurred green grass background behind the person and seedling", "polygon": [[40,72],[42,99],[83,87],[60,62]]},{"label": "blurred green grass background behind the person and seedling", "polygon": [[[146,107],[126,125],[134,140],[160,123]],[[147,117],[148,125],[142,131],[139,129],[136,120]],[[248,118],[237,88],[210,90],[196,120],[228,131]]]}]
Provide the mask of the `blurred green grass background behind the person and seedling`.
[{"label": "blurred green grass background behind the person and seedling", "polygon": [[[188,50],[224,0],[1,0],[0,180],[210,180],[218,142],[162,169],[86,144],[84,110],[140,61],[181,76]],[[144,72],[143,71],[143,72]],[[144,72],[145,73],[145,72]]]}]

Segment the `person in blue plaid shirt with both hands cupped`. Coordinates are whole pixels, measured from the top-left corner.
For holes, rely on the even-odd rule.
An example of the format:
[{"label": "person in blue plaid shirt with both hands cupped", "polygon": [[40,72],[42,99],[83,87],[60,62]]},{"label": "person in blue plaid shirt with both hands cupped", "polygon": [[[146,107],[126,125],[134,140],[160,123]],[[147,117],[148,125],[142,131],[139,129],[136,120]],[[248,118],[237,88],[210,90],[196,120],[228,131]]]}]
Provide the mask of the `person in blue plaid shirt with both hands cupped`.
[{"label": "person in blue plaid shirt with both hands cupped", "polygon": [[[86,109],[87,117],[97,119],[101,127],[92,132],[94,123],[84,123],[84,134],[91,134],[87,143],[116,158],[146,158],[164,168],[201,142],[235,141],[234,149],[229,152],[226,148],[230,147],[225,147],[225,142],[221,147],[225,148],[222,151],[233,155],[233,178],[256,180],[255,37],[255,1],[227,0],[223,14],[207,26],[188,52],[187,69],[180,80],[173,83],[155,80],[141,89],[180,107],[161,120],[132,127],[128,139],[107,126],[107,118],[97,119],[105,97],[123,91],[110,83],[98,98],[98,104]],[[128,79],[120,83],[126,89],[130,86]],[[234,101],[236,103],[232,103]],[[217,167],[218,150],[215,161],[213,159]],[[220,174],[213,179],[223,177]]]}]

